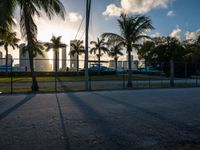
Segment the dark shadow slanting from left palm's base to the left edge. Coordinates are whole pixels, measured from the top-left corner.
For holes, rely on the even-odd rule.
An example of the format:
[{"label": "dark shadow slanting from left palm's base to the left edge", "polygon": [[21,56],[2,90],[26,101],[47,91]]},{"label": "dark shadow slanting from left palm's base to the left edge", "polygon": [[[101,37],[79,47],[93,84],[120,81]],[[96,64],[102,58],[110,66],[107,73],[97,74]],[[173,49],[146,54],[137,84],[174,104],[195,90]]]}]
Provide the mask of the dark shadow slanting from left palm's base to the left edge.
[{"label": "dark shadow slanting from left palm's base to the left edge", "polygon": [[17,109],[19,109],[22,105],[30,101],[33,97],[35,97],[35,94],[28,94],[23,100],[15,104],[14,106],[10,107],[6,111],[0,114],[0,121],[4,118],[6,118],[9,114],[14,113]]}]

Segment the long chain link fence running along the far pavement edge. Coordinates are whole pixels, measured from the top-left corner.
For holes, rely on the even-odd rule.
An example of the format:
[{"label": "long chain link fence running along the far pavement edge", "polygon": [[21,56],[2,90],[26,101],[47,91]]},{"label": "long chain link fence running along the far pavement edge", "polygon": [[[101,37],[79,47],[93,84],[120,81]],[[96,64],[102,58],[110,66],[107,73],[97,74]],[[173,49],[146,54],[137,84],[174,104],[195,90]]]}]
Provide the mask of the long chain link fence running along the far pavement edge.
[{"label": "long chain link fence running along the far pavement edge", "polygon": [[[101,61],[99,65],[98,61],[90,60],[88,63],[90,90],[130,88],[127,61]],[[200,63],[134,61],[131,64],[133,89],[200,86]],[[85,90],[83,60],[34,59],[34,71],[39,92]],[[1,93],[31,92],[31,85],[28,59],[0,59]]]}]

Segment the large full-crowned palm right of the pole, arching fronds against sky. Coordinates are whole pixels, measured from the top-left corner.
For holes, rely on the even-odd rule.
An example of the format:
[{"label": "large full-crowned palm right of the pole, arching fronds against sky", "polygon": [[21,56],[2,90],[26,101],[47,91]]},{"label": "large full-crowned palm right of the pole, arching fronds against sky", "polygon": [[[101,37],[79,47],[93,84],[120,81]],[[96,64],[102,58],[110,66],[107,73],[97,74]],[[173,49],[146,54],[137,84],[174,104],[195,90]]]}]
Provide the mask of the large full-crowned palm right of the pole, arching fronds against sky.
[{"label": "large full-crowned palm right of the pole, arching fronds against sky", "polygon": [[128,53],[128,87],[132,87],[132,65],[131,52],[133,48],[138,48],[138,42],[143,38],[149,38],[144,32],[154,29],[151,20],[146,16],[127,16],[121,14],[118,19],[121,35],[115,33],[104,33],[103,38],[109,41],[123,42]]}]

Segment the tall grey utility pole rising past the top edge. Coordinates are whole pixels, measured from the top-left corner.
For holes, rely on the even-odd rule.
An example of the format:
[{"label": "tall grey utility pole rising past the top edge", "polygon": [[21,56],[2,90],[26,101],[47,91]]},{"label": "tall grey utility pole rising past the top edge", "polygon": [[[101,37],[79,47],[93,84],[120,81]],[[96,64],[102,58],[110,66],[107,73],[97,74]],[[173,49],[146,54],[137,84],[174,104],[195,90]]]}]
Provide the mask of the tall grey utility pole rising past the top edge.
[{"label": "tall grey utility pole rising past the top edge", "polygon": [[85,90],[89,89],[89,73],[88,73],[88,32],[89,32],[89,23],[90,23],[90,9],[91,9],[91,0],[86,2],[86,29],[85,29]]}]

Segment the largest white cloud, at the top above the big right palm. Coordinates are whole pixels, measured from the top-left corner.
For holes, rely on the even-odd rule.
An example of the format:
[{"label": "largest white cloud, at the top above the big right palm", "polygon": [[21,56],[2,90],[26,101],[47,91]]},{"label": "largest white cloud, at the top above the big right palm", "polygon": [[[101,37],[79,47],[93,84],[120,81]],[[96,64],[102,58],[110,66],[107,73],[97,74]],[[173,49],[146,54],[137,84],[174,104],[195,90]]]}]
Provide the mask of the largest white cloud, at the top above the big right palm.
[{"label": "largest white cloud, at the top above the big right palm", "polygon": [[167,8],[168,5],[174,0],[121,0],[121,6],[117,7],[115,4],[107,6],[106,11],[103,12],[104,16],[119,16],[119,12],[133,14],[145,14],[152,9]]}]

